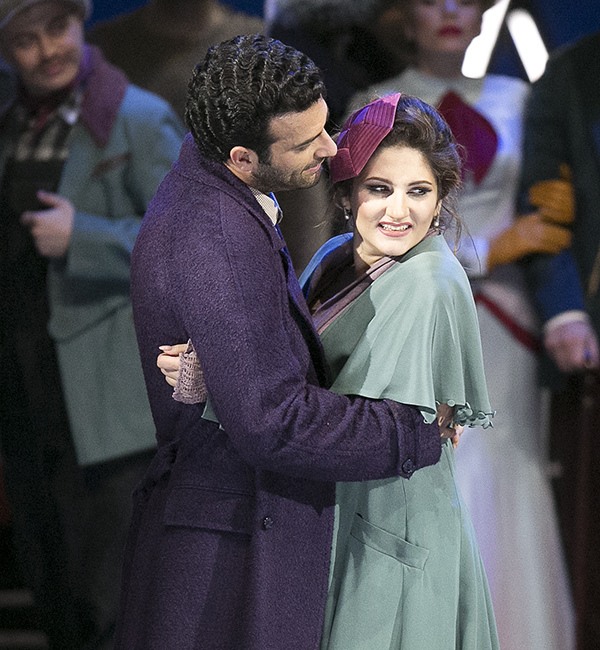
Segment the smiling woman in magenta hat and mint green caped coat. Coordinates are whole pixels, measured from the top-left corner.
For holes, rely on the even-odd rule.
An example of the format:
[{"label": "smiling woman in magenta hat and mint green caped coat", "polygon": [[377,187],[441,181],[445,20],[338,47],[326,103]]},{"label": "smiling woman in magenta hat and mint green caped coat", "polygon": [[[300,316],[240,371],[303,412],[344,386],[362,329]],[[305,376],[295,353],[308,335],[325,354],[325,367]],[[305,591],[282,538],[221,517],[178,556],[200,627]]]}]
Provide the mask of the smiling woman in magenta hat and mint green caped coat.
[{"label": "smiling woman in magenta hat and mint green caped coat", "polygon": [[[475,303],[441,234],[455,156],[447,125],[419,100],[396,94],[354,113],[331,161],[354,234],[328,242],[301,284],[331,390],[412,404],[426,421],[448,404],[456,424],[488,427]],[[451,442],[409,480],[338,483],[321,650],[497,648]]]}]

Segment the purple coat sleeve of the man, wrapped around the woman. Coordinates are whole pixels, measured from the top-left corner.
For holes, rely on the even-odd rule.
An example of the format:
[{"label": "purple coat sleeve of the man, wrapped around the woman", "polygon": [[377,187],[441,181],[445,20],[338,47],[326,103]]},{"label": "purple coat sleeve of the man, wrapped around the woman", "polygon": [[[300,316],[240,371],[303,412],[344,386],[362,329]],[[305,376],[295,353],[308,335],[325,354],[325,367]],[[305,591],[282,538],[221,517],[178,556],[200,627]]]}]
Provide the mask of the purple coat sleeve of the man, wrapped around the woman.
[{"label": "purple coat sleeve of the man, wrapped around the woman", "polygon": [[[205,199],[197,211],[193,202],[185,209],[194,215],[185,240],[199,245],[190,250],[172,242],[164,268],[173,312],[196,348],[213,410],[242,458],[327,481],[409,477],[437,462],[439,428],[425,424],[416,409],[336,395],[307,382],[302,325],[290,317],[281,253],[265,225],[222,197],[219,205],[207,207]],[[203,218],[202,210],[218,210],[220,221]],[[143,273],[137,259],[136,275]]]}]

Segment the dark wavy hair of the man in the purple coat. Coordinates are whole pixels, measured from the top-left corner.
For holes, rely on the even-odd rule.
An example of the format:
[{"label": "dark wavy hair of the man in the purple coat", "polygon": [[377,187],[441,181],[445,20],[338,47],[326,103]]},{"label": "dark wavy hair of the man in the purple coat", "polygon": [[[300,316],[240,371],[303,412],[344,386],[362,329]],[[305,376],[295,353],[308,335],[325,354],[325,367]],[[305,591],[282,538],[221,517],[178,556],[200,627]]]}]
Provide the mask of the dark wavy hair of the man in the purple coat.
[{"label": "dark wavy hair of the man in the purple coat", "polygon": [[325,97],[321,71],[302,52],[260,34],[211,47],[194,70],[185,119],[200,151],[219,162],[233,147],[269,162],[273,117]]}]

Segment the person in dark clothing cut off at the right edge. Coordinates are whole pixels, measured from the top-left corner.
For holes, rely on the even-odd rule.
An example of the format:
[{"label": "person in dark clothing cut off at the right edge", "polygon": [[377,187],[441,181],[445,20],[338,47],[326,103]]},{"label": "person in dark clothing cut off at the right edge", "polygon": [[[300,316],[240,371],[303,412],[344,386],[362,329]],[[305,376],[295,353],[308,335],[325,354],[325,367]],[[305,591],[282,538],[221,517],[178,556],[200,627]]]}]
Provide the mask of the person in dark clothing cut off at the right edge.
[{"label": "person in dark clothing cut off at the right edge", "polygon": [[[552,393],[551,457],[573,584],[577,650],[600,646],[600,31],[553,52],[527,106],[520,198],[571,170],[571,247],[527,265]],[[556,202],[557,206],[560,204]]]}]

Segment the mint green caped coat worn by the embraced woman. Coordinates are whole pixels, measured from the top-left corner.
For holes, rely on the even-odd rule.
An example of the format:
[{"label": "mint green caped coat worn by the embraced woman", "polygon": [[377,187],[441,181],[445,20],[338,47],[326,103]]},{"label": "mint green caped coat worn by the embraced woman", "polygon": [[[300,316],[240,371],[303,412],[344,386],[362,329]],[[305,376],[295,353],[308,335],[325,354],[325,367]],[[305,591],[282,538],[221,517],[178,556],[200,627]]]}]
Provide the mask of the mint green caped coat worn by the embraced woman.
[{"label": "mint green caped coat worn by the embraced woman", "polygon": [[[475,305],[443,237],[411,249],[320,335],[333,391],[412,404],[427,421],[455,404],[457,421],[489,426]],[[454,473],[446,441],[410,479],[337,484],[322,650],[498,650]]]}]

